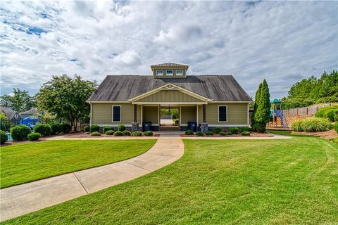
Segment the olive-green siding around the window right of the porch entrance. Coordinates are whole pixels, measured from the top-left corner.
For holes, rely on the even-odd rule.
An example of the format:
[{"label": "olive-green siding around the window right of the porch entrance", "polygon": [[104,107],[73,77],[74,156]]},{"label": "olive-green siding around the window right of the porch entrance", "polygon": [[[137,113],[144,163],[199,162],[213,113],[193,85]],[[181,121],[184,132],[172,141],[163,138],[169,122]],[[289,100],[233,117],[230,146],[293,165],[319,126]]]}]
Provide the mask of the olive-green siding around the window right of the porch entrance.
[{"label": "olive-green siding around the window right of the porch entrance", "polygon": [[[227,122],[218,122],[218,105],[227,105]],[[202,106],[200,106],[200,108],[202,108]],[[202,121],[202,115],[200,118]],[[248,104],[208,104],[206,105],[206,122],[208,124],[248,124]]]}]

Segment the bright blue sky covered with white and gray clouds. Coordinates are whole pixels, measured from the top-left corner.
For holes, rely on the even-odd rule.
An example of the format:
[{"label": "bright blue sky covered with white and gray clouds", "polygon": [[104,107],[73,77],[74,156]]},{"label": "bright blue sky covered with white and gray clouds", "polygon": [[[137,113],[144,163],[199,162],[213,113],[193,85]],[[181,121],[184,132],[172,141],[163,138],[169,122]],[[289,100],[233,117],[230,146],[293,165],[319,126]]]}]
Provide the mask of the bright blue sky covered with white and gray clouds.
[{"label": "bright blue sky covered with white and gray clouds", "polygon": [[1,94],[35,94],[52,75],[234,75],[272,97],[338,69],[338,1],[1,1]]}]

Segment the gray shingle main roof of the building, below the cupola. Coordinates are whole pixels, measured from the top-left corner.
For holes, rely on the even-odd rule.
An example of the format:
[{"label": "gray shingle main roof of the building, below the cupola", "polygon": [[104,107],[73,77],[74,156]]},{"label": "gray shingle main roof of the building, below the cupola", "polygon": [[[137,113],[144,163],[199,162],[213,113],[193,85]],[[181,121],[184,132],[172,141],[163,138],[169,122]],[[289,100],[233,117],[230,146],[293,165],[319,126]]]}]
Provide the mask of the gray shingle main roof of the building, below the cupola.
[{"label": "gray shingle main roof of the building, below the cupola", "polygon": [[252,101],[232,75],[154,79],[152,76],[107,76],[88,101],[127,101],[164,84],[175,84],[213,101]]}]

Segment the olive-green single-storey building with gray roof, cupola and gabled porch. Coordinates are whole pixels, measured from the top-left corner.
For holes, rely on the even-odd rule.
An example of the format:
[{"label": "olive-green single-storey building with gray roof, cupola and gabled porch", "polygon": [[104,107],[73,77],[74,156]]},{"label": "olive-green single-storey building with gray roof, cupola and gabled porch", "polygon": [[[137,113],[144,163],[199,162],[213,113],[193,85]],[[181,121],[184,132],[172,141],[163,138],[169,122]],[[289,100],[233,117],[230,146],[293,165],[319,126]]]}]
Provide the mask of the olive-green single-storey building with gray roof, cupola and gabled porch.
[{"label": "olive-green single-storey building with gray roof, cupola and gabled porch", "polygon": [[151,122],[161,130],[161,108],[179,110],[179,129],[196,122],[202,131],[249,125],[252,101],[232,75],[187,75],[188,65],[151,65],[153,75],[107,76],[89,97],[90,124],[132,130]]}]

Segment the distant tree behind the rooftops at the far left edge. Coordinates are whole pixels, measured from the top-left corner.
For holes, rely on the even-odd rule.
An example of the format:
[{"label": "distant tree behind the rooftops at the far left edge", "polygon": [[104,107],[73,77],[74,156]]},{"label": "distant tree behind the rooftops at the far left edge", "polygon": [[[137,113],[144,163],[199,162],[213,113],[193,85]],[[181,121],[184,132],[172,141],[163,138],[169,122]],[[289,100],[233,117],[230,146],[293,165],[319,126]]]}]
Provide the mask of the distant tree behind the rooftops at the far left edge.
[{"label": "distant tree behind the rooftops at the far left edge", "polygon": [[20,113],[30,110],[36,105],[34,98],[28,94],[28,91],[20,89],[13,89],[13,96],[0,96],[0,104]]}]

